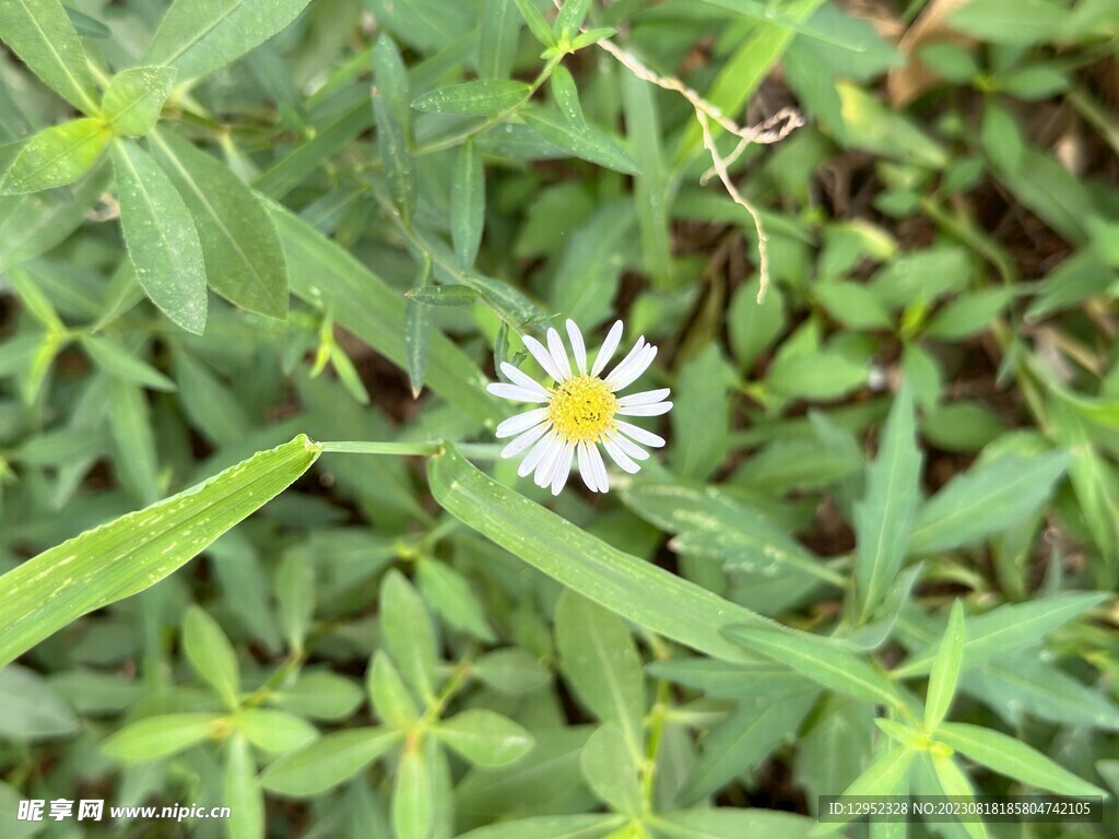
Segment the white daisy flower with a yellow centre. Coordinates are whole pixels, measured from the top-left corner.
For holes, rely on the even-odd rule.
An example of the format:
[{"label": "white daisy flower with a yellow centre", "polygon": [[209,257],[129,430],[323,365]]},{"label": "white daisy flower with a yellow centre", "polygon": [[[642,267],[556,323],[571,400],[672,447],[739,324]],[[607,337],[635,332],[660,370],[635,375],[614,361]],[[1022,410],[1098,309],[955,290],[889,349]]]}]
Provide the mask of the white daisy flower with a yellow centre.
[{"label": "white daisy flower with a yellow centre", "polygon": [[548,330],[547,347],[532,336],[524,338],[525,347],[555,383],[551,389],[507,361],[501,362],[501,373],[513,384],[497,383],[486,388],[504,399],[544,405],[509,417],[497,426],[498,440],[514,437],[501,451],[501,456],[515,458],[527,450],[517,474],[525,478],[534,473],[536,486],[551,486],[554,496],[560,494],[571,474],[572,462],[577,459],[579,472],[587,489],[605,492],[610,481],[599,444],[614,463],[631,474],[641,469],[637,461],[649,456],[638,443],[658,447],[665,444],[656,434],[618,417],[659,416],[668,413],[673,403],[665,402],[667,387],[615,396],[617,392],[632,385],[657,355],[657,348],[646,343],[645,336],[637,339],[629,355],[605,376],[601,374],[618,349],[622,322],[617,321],[610,328],[590,371],[583,333],[572,320],[567,321],[567,337],[575,357],[574,369],[567,358],[567,348],[555,329]]}]

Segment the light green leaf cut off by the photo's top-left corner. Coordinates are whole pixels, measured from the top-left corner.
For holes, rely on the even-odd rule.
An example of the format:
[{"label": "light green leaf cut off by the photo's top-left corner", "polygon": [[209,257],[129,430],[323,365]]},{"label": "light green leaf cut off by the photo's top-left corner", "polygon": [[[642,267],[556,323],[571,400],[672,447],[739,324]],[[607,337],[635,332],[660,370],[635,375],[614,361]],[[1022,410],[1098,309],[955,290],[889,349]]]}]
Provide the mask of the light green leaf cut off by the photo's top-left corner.
[{"label": "light green leaf cut off by the photo's top-left corner", "polygon": [[0,32],[43,83],[78,111],[97,112],[97,93],[85,50],[58,0],[4,0]]}]

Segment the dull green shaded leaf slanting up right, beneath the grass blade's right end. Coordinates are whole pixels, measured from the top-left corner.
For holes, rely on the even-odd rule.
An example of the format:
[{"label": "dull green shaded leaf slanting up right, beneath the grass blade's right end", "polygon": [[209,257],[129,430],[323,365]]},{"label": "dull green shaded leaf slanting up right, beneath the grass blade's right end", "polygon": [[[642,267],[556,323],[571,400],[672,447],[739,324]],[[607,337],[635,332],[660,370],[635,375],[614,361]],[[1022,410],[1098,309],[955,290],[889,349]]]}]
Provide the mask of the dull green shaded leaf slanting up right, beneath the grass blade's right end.
[{"label": "dull green shaded leaf slanting up right, beneath the grass blade's right end", "polygon": [[783,741],[793,741],[800,722],[816,704],[816,691],[755,699],[712,728],[679,795],[696,802],[716,793],[739,775],[756,769]]}]

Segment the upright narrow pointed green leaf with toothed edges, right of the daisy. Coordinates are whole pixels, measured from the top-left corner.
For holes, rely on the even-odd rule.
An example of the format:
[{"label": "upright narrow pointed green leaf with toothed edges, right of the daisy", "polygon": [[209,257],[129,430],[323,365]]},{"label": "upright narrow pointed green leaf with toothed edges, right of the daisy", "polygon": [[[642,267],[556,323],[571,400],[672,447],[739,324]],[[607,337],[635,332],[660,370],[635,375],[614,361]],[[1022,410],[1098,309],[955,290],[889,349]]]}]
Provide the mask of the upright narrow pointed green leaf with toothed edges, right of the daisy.
[{"label": "upright narrow pointed green leaf with toothed edges, right of the daisy", "polygon": [[867,468],[866,496],[855,508],[855,585],[865,622],[901,571],[918,506],[921,452],[916,447],[913,390],[903,384]]}]

